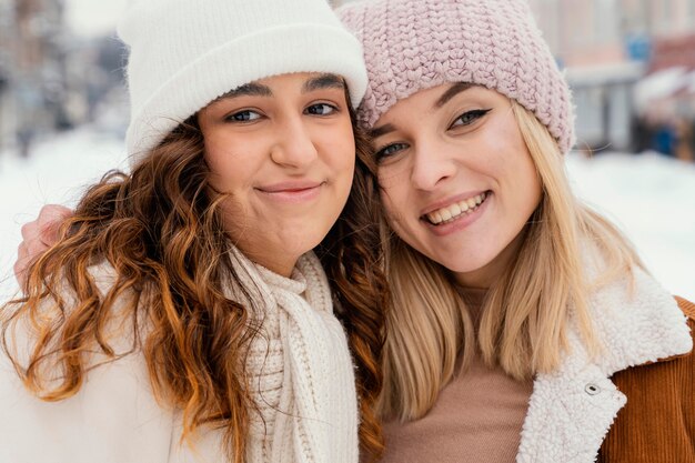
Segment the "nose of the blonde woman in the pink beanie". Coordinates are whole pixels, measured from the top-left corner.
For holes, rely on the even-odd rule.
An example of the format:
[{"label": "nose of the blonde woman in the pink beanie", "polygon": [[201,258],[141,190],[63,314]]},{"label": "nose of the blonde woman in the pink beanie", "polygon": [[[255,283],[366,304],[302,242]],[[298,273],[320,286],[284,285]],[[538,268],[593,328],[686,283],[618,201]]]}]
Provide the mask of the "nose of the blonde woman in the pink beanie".
[{"label": "nose of the blonde woman in the pink beanie", "polygon": [[411,167],[411,183],[430,191],[455,173],[456,163],[444,143],[431,140],[416,142]]}]

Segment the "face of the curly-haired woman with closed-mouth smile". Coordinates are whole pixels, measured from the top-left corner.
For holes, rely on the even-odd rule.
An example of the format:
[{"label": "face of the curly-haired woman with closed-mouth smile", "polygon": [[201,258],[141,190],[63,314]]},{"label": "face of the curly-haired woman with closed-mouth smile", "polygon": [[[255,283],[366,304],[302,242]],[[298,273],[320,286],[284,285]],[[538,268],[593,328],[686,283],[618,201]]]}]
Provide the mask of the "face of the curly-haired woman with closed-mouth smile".
[{"label": "face of the curly-haired woman with closed-mouth smile", "polygon": [[201,110],[226,232],[254,262],[289,275],[340,215],[355,164],[345,85],[293,73],[245,84]]}]

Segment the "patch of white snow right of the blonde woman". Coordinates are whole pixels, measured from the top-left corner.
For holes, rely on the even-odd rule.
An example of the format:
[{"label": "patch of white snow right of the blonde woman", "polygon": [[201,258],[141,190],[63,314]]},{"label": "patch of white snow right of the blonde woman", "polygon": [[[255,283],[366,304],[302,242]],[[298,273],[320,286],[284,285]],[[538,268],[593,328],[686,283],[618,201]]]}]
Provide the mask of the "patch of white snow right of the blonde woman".
[{"label": "patch of white snow right of the blonde woman", "polygon": [[652,274],[695,300],[695,164],[606,153],[571,155],[567,168],[575,191],[621,228]]}]

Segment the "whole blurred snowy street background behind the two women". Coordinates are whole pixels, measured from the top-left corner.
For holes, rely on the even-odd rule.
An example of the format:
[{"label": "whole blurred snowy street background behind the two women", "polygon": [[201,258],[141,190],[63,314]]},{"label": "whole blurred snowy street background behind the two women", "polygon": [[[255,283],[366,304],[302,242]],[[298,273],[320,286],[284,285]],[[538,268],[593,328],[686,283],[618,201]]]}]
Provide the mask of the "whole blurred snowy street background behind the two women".
[{"label": "whole blurred snowy street background behind the two women", "polygon": [[[695,299],[695,0],[528,1],[575,97],[577,192]],[[127,3],[0,0],[0,299],[21,224],[127,169]]]}]

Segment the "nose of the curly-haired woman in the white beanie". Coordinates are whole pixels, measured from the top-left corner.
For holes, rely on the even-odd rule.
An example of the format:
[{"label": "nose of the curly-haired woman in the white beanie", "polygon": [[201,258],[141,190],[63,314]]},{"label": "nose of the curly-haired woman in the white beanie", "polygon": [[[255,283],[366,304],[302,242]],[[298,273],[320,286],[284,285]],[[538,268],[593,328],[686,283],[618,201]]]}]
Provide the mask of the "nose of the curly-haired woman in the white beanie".
[{"label": "nose of the curly-haired woman in the white beanie", "polygon": [[283,118],[275,133],[276,138],[270,153],[274,163],[290,169],[302,169],[311,164],[319,155],[312,130],[302,114]]}]

